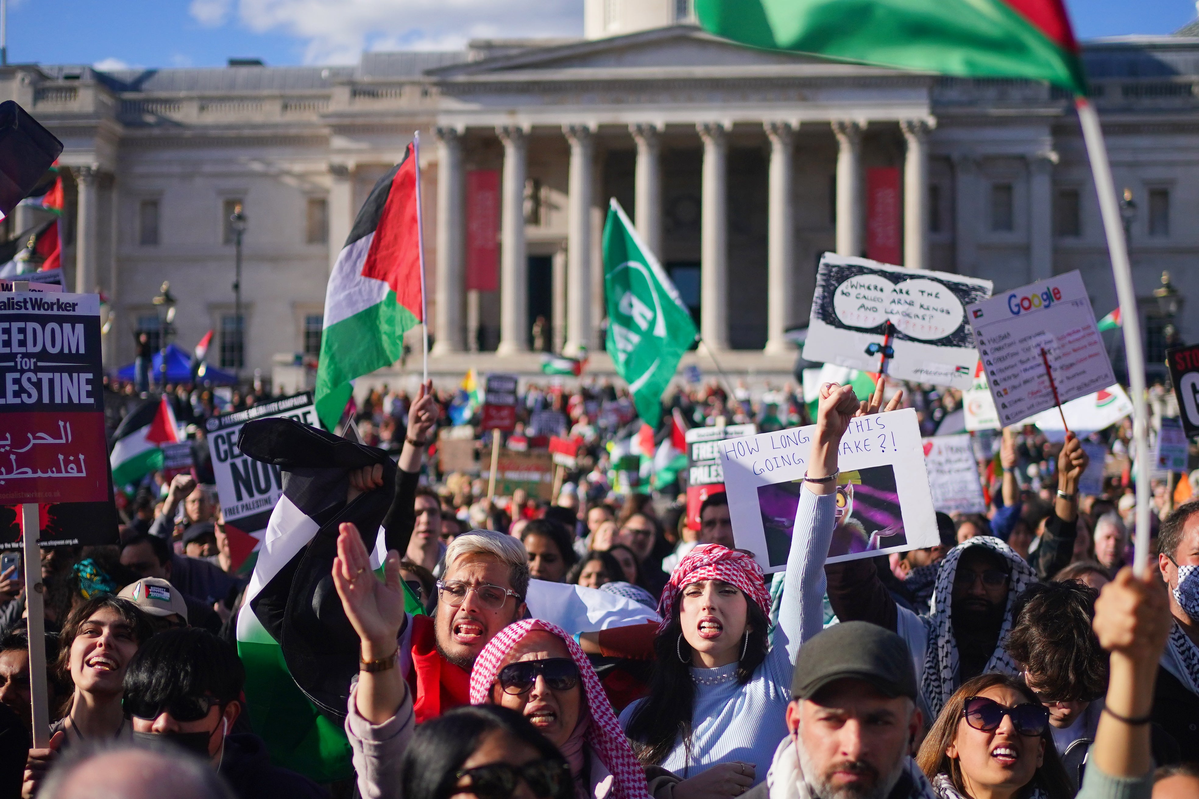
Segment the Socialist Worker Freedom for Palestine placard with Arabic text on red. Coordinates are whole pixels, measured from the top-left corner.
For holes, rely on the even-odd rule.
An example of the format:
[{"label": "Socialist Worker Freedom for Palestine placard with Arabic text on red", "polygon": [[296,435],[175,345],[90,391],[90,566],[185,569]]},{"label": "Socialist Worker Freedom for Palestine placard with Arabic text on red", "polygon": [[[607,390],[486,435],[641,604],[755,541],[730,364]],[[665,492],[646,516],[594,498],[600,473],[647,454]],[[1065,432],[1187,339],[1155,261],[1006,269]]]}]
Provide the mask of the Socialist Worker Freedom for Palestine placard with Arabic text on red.
[{"label": "Socialist Worker Freedom for Palestine placard with Arabic text on red", "polygon": [[0,504],[108,497],[100,297],[0,293]]}]

